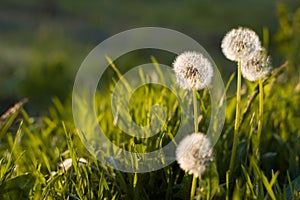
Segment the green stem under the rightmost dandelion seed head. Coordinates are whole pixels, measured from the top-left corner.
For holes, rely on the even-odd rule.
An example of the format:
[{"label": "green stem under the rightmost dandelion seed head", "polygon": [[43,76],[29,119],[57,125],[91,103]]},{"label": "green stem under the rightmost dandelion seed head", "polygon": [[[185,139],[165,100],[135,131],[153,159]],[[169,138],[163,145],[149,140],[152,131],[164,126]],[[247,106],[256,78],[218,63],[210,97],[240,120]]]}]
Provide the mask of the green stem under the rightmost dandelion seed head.
[{"label": "green stem under the rightmost dandelion seed head", "polygon": [[259,160],[259,144],[260,144],[260,136],[262,131],[263,124],[263,111],[264,111],[264,87],[262,79],[259,79],[259,120],[258,120],[258,128],[257,128],[257,141],[256,141],[256,158]]}]

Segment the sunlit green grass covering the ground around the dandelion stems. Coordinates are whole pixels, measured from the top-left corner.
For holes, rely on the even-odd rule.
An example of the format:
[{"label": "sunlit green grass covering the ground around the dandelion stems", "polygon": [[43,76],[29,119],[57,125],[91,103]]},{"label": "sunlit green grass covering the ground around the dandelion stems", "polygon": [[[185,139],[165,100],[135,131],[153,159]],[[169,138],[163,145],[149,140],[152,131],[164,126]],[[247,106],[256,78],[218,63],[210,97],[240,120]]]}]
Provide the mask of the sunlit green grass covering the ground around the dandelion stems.
[{"label": "sunlit green grass covering the ground around the dandelion stems", "polygon": [[[222,138],[215,146],[215,170],[209,170],[197,185],[197,195],[223,199],[270,198],[285,199],[288,195],[299,198],[292,180],[299,175],[299,116],[300,93],[293,84],[285,81],[285,67],[275,70],[264,82],[264,123],[261,135],[261,159],[256,161],[255,146],[259,121],[258,85],[245,82],[247,90],[242,91],[242,108],[248,108],[242,115],[240,143],[233,179],[226,179],[229,166],[235,98],[228,97],[226,124]],[[113,84],[113,83],[112,83]],[[230,84],[230,83],[228,83]],[[112,87],[111,85],[110,87]],[[157,96],[160,91],[159,97]],[[147,99],[143,98],[146,94]],[[110,98],[101,98],[97,116],[107,136],[117,145],[140,153],[161,148],[169,142],[178,124],[178,104],[170,91],[146,85],[137,90],[130,108],[137,124],[149,123],[149,108],[156,103],[165,105],[169,111],[164,134],[154,138],[137,140],[122,137],[122,131],[113,125],[110,113]],[[209,110],[209,98],[203,95],[203,104]],[[97,102],[99,102],[97,101]],[[174,101],[170,104],[168,102]],[[250,101],[250,102],[249,102]],[[276,102],[276,104],[274,103]],[[147,106],[145,106],[147,105]],[[209,111],[202,113],[199,123],[201,131],[208,126]],[[140,117],[144,116],[144,117]],[[70,104],[61,104],[53,99],[49,114],[31,118],[17,104],[2,117],[0,196],[22,199],[187,199],[192,176],[185,174],[176,163],[149,173],[124,173],[97,161],[85,150],[72,122]],[[157,142],[161,141],[161,142]],[[135,146],[133,146],[135,145]],[[135,147],[135,148],[133,148]],[[289,156],[287,156],[289,155]],[[73,165],[65,170],[59,166],[67,158]],[[87,163],[79,162],[84,158]],[[107,158],[109,159],[109,158]],[[211,174],[213,172],[213,174]],[[234,181],[233,181],[234,180]],[[219,183],[219,184],[218,184]]]}]

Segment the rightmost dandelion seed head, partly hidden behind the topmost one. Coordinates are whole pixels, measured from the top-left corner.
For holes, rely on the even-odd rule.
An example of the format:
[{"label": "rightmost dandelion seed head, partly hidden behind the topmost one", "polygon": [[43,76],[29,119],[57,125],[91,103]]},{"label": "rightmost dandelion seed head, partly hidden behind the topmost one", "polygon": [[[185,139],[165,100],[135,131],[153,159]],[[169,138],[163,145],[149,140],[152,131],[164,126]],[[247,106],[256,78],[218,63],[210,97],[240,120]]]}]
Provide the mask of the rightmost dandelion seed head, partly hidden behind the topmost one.
[{"label": "rightmost dandelion seed head, partly hidden behind the topmost one", "polygon": [[252,58],[242,60],[241,65],[242,75],[249,81],[257,81],[267,76],[271,68],[271,59],[263,48],[256,51]]}]

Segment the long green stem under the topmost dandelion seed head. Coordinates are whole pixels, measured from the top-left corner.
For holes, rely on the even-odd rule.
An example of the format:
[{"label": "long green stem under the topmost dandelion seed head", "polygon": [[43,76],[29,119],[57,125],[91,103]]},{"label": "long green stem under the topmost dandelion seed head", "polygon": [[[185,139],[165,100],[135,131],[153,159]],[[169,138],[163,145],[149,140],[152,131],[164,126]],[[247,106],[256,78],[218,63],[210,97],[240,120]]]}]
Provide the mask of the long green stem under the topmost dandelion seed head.
[{"label": "long green stem under the topmost dandelion seed head", "polygon": [[234,161],[236,156],[236,149],[239,140],[239,122],[240,122],[240,103],[241,103],[241,61],[238,61],[238,73],[237,73],[237,89],[236,89],[236,110],[235,110],[235,124],[234,124],[234,136],[232,153],[230,158],[229,173],[233,173]]}]

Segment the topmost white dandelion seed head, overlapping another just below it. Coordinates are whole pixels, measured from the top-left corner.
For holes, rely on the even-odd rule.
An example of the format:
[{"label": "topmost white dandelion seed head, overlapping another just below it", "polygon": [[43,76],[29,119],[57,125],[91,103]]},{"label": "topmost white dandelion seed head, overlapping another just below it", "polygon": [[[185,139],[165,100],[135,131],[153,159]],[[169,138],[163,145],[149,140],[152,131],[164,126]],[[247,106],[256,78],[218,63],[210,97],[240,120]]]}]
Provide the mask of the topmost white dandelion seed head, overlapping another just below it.
[{"label": "topmost white dandelion seed head, overlapping another just below it", "polygon": [[261,48],[259,37],[248,28],[239,27],[229,31],[222,40],[223,54],[232,61],[250,59]]}]

